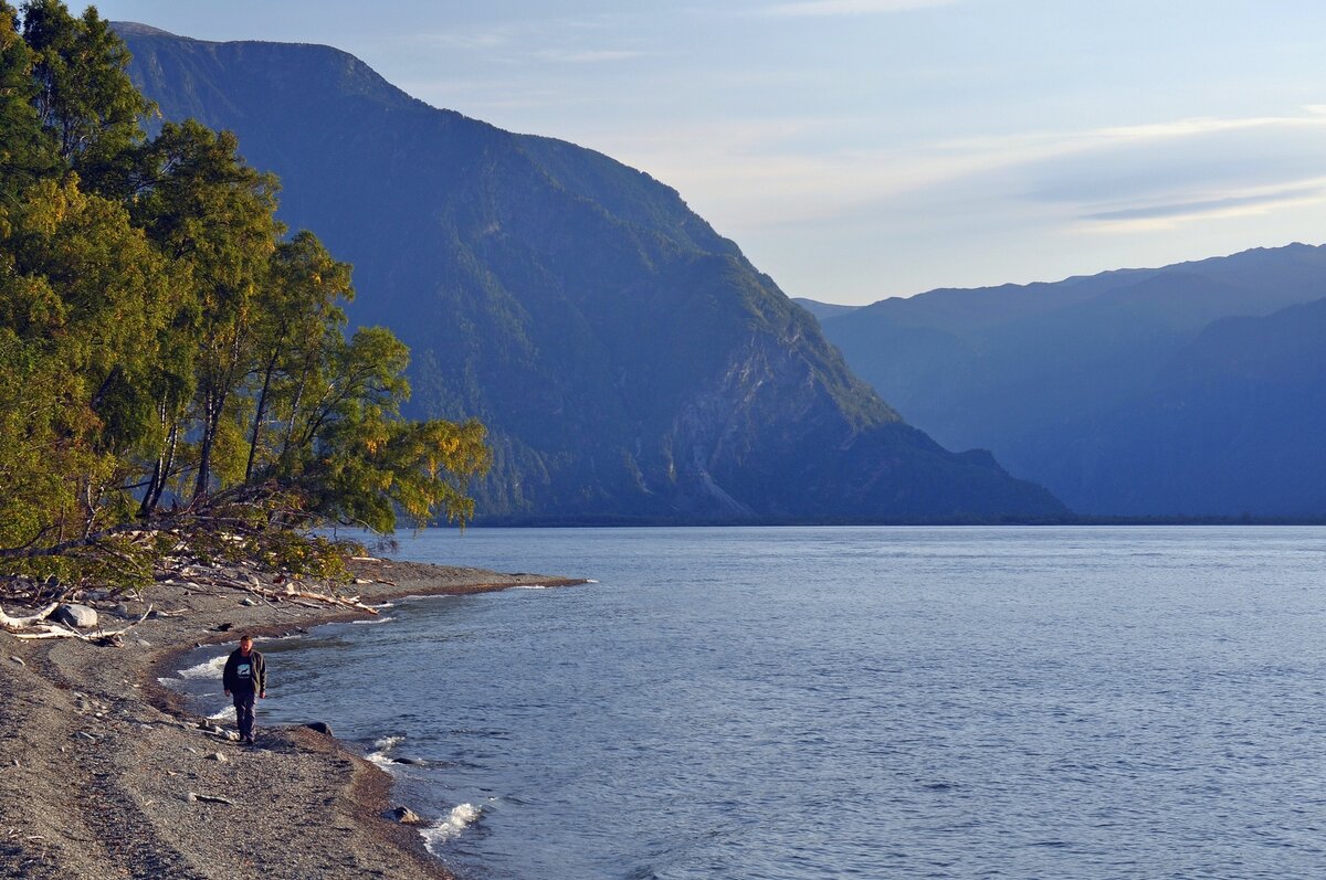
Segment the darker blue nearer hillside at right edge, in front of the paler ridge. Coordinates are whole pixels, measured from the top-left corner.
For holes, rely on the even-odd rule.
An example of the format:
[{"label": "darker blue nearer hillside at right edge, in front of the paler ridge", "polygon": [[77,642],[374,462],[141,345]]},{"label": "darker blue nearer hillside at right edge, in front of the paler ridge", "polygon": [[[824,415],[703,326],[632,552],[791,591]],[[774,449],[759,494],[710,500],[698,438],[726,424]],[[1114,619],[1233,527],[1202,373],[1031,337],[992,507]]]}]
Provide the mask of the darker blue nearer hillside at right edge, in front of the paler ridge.
[{"label": "darker blue nearer hillside at right edge, in front of the paler ridge", "polygon": [[1323,341],[1326,300],[1216,321],[1126,406],[1028,451],[1098,513],[1326,516]]}]

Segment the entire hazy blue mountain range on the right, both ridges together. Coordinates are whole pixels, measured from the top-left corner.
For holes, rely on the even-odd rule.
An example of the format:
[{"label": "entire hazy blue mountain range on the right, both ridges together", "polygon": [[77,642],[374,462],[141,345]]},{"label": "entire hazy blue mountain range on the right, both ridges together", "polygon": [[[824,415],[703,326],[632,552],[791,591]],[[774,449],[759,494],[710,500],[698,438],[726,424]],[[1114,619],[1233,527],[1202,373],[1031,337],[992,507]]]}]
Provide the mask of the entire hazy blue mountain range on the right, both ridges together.
[{"label": "entire hazy blue mountain range on the right, both ridges together", "polygon": [[[908,421],[945,445],[989,448],[1079,513],[1309,516],[1302,493],[1236,486],[1314,472],[1310,444],[1286,433],[1292,412],[1262,406],[1310,399],[1305,376],[1277,360],[1282,372],[1257,379],[1257,404],[1217,354],[1244,326],[1224,323],[1236,318],[1268,318],[1249,339],[1289,346],[1270,329],[1292,327],[1270,317],[1321,297],[1326,247],[1294,244],[1057,284],[934,290],[821,323]],[[1184,431],[1184,420],[1208,431]]]}]

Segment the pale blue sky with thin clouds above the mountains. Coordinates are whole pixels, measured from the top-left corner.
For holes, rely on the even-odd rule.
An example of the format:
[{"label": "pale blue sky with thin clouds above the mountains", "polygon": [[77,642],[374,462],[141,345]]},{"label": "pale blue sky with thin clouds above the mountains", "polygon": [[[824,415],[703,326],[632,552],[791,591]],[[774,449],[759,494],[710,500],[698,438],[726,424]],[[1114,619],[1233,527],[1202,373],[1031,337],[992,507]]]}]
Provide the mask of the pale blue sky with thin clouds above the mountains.
[{"label": "pale blue sky with thin clouds above the mountains", "polygon": [[97,8],[202,40],[329,44],[434,106],[605,152],[794,297],[1326,241],[1319,0]]}]

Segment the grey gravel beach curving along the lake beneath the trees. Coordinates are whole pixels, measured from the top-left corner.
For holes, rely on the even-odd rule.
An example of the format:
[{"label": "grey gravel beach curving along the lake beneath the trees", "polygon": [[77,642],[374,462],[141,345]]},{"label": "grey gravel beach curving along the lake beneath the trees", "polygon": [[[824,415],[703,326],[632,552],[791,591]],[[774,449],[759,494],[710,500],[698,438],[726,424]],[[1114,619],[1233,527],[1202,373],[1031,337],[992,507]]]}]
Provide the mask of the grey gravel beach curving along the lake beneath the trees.
[{"label": "grey gravel beach curving along the lake beneath the trees", "polygon": [[[366,603],[582,583],[392,561],[353,569]],[[202,729],[158,684],[180,652],[241,630],[365,616],[288,600],[249,607],[245,596],[174,583],[126,603],[125,618],[105,604],[107,630],[147,603],[179,615],[145,620],[122,648],[0,632],[0,877],[450,877],[415,828],[383,818],[396,804],[381,769],[306,728],[267,728],[256,747],[241,746]]]}]

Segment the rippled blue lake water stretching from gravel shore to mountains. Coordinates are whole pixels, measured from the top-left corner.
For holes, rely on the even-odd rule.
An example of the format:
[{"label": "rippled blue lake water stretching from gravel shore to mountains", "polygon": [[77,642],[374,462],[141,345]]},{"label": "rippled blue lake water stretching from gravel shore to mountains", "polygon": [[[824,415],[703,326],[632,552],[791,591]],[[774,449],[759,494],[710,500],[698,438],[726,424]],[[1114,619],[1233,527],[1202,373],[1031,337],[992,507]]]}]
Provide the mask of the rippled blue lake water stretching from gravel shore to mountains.
[{"label": "rippled blue lake water stretching from gravel shore to mountains", "polygon": [[395,555],[597,580],[263,645],[260,724],[426,761],[391,765],[398,800],[461,877],[1326,876],[1326,529],[472,529]]}]

